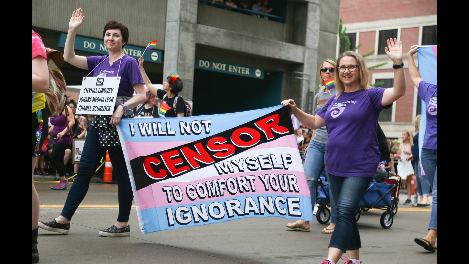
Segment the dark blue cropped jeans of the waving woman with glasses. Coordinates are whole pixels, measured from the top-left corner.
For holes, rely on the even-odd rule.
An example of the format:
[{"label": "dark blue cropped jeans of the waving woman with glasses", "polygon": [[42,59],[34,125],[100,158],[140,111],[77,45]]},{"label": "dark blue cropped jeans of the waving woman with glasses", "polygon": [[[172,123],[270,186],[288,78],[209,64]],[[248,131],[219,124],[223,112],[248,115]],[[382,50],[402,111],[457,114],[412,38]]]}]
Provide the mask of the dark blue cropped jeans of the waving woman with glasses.
[{"label": "dark blue cropped jeans of the waving woman with glasses", "polygon": [[372,179],[372,177],[339,177],[329,174],[333,201],[337,201],[335,204],[337,221],[329,248],[339,248],[346,252],[362,247],[355,214],[358,203]]}]

